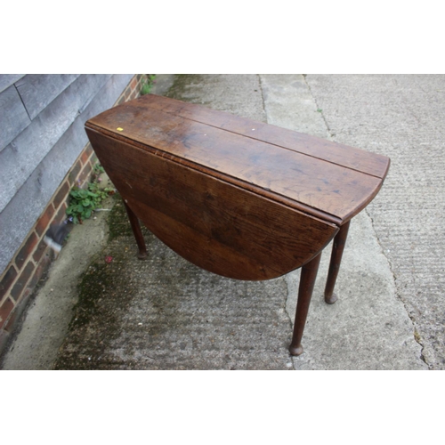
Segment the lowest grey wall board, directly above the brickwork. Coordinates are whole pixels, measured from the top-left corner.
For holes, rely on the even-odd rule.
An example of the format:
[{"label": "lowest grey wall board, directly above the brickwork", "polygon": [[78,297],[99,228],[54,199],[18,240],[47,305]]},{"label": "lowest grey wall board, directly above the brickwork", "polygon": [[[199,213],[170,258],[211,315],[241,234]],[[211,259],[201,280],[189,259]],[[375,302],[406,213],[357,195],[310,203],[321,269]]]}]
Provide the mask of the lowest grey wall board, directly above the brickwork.
[{"label": "lowest grey wall board, directly above the brickwork", "polygon": [[44,211],[53,193],[77,159],[88,139],[85,121],[109,109],[133,75],[114,75],[88,102],[85,110],[61,136],[14,198],[0,214],[0,273],[11,261],[23,239]]}]

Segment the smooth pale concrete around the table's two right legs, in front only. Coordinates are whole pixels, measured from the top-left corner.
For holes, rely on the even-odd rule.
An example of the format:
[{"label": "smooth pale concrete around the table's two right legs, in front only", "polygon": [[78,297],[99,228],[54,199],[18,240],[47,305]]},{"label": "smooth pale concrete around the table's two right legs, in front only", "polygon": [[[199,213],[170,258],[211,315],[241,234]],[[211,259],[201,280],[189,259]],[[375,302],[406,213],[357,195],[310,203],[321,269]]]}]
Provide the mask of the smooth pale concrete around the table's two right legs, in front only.
[{"label": "smooth pale concrete around the table's two right legs, in front only", "polygon": [[[427,369],[413,324],[366,212],[352,221],[337,279],[338,300],[324,302],[330,246],[324,253],[296,369]],[[287,275],[289,316],[299,275]]]}]

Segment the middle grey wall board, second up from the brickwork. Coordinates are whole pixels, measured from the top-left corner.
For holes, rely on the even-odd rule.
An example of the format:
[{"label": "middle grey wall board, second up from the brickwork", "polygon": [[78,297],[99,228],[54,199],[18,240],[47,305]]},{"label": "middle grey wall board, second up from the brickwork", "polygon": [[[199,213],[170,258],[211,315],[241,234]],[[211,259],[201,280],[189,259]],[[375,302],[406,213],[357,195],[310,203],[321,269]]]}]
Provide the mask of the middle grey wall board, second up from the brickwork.
[{"label": "middle grey wall board, second up from the brickwork", "polygon": [[0,152],[0,212],[110,77],[78,77]]}]

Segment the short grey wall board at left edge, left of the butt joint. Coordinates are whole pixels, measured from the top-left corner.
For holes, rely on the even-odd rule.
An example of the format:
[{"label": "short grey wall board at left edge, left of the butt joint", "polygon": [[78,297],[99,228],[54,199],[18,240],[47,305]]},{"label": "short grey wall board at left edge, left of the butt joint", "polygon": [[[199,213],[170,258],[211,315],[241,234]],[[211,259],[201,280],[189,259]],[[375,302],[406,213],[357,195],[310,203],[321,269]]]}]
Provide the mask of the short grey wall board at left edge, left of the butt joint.
[{"label": "short grey wall board at left edge, left of the butt joint", "polygon": [[0,122],[0,151],[2,151],[31,122],[14,85],[0,93]]}]

